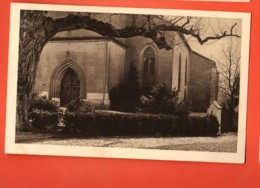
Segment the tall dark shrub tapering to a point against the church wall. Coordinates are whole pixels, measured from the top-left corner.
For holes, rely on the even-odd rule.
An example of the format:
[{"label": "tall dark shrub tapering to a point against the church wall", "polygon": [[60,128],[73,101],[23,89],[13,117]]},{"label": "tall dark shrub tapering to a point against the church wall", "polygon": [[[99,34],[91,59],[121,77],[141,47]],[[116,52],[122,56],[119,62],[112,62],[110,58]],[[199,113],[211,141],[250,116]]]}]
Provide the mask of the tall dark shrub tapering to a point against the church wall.
[{"label": "tall dark shrub tapering to a point against the church wall", "polygon": [[138,82],[138,71],[134,63],[131,63],[126,80],[109,92],[111,109],[134,112],[139,105],[140,96],[141,90]]}]

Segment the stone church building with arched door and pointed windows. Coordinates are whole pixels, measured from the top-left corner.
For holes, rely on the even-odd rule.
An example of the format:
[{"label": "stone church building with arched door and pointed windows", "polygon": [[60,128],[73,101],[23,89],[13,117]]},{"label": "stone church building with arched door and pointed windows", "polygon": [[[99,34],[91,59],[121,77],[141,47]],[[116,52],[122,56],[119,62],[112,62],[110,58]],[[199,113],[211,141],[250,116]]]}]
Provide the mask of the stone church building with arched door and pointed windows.
[{"label": "stone church building with arched door and pointed windows", "polygon": [[[95,17],[117,27],[129,23],[127,15]],[[206,112],[218,97],[215,62],[194,52],[182,34],[165,35],[175,43],[171,50],[158,49],[151,39],[141,36],[109,38],[83,29],[60,32],[42,51],[35,91],[60,106],[81,97],[109,108],[109,91],[123,82],[134,63],[142,86],[166,81],[180,91],[181,100],[191,102],[193,111]]]}]

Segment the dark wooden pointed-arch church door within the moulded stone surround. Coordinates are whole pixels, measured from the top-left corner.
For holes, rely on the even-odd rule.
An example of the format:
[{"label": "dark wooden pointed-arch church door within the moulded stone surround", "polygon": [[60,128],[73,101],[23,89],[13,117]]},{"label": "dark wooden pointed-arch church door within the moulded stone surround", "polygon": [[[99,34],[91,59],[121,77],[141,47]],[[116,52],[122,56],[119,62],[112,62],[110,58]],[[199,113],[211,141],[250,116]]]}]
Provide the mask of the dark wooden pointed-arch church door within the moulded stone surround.
[{"label": "dark wooden pointed-arch church door within the moulded stone surround", "polygon": [[79,77],[74,70],[69,68],[61,80],[60,104],[66,106],[77,97],[80,97]]}]

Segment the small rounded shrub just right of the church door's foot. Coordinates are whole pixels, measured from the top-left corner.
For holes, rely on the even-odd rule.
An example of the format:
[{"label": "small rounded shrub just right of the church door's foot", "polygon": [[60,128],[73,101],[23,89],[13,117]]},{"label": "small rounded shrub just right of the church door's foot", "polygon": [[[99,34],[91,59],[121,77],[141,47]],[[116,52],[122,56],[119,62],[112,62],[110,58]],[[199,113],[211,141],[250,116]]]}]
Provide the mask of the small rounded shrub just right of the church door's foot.
[{"label": "small rounded shrub just right of the church door's foot", "polygon": [[77,97],[72,99],[71,102],[67,105],[67,110],[69,112],[86,113],[94,112],[95,108],[92,104],[85,102],[81,98]]}]

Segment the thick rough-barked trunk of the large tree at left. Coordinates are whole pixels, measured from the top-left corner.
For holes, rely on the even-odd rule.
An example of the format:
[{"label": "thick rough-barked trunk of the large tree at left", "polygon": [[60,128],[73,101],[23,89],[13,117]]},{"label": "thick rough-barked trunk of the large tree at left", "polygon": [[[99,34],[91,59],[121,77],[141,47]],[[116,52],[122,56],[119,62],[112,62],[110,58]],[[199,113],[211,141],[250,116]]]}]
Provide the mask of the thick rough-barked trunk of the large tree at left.
[{"label": "thick rough-barked trunk of the large tree at left", "polygon": [[18,131],[31,129],[28,110],[37,65],[43,47],[54,35],[54,27],[51,27],[46,15],[44,11],[21,11],[16,118]]}]

